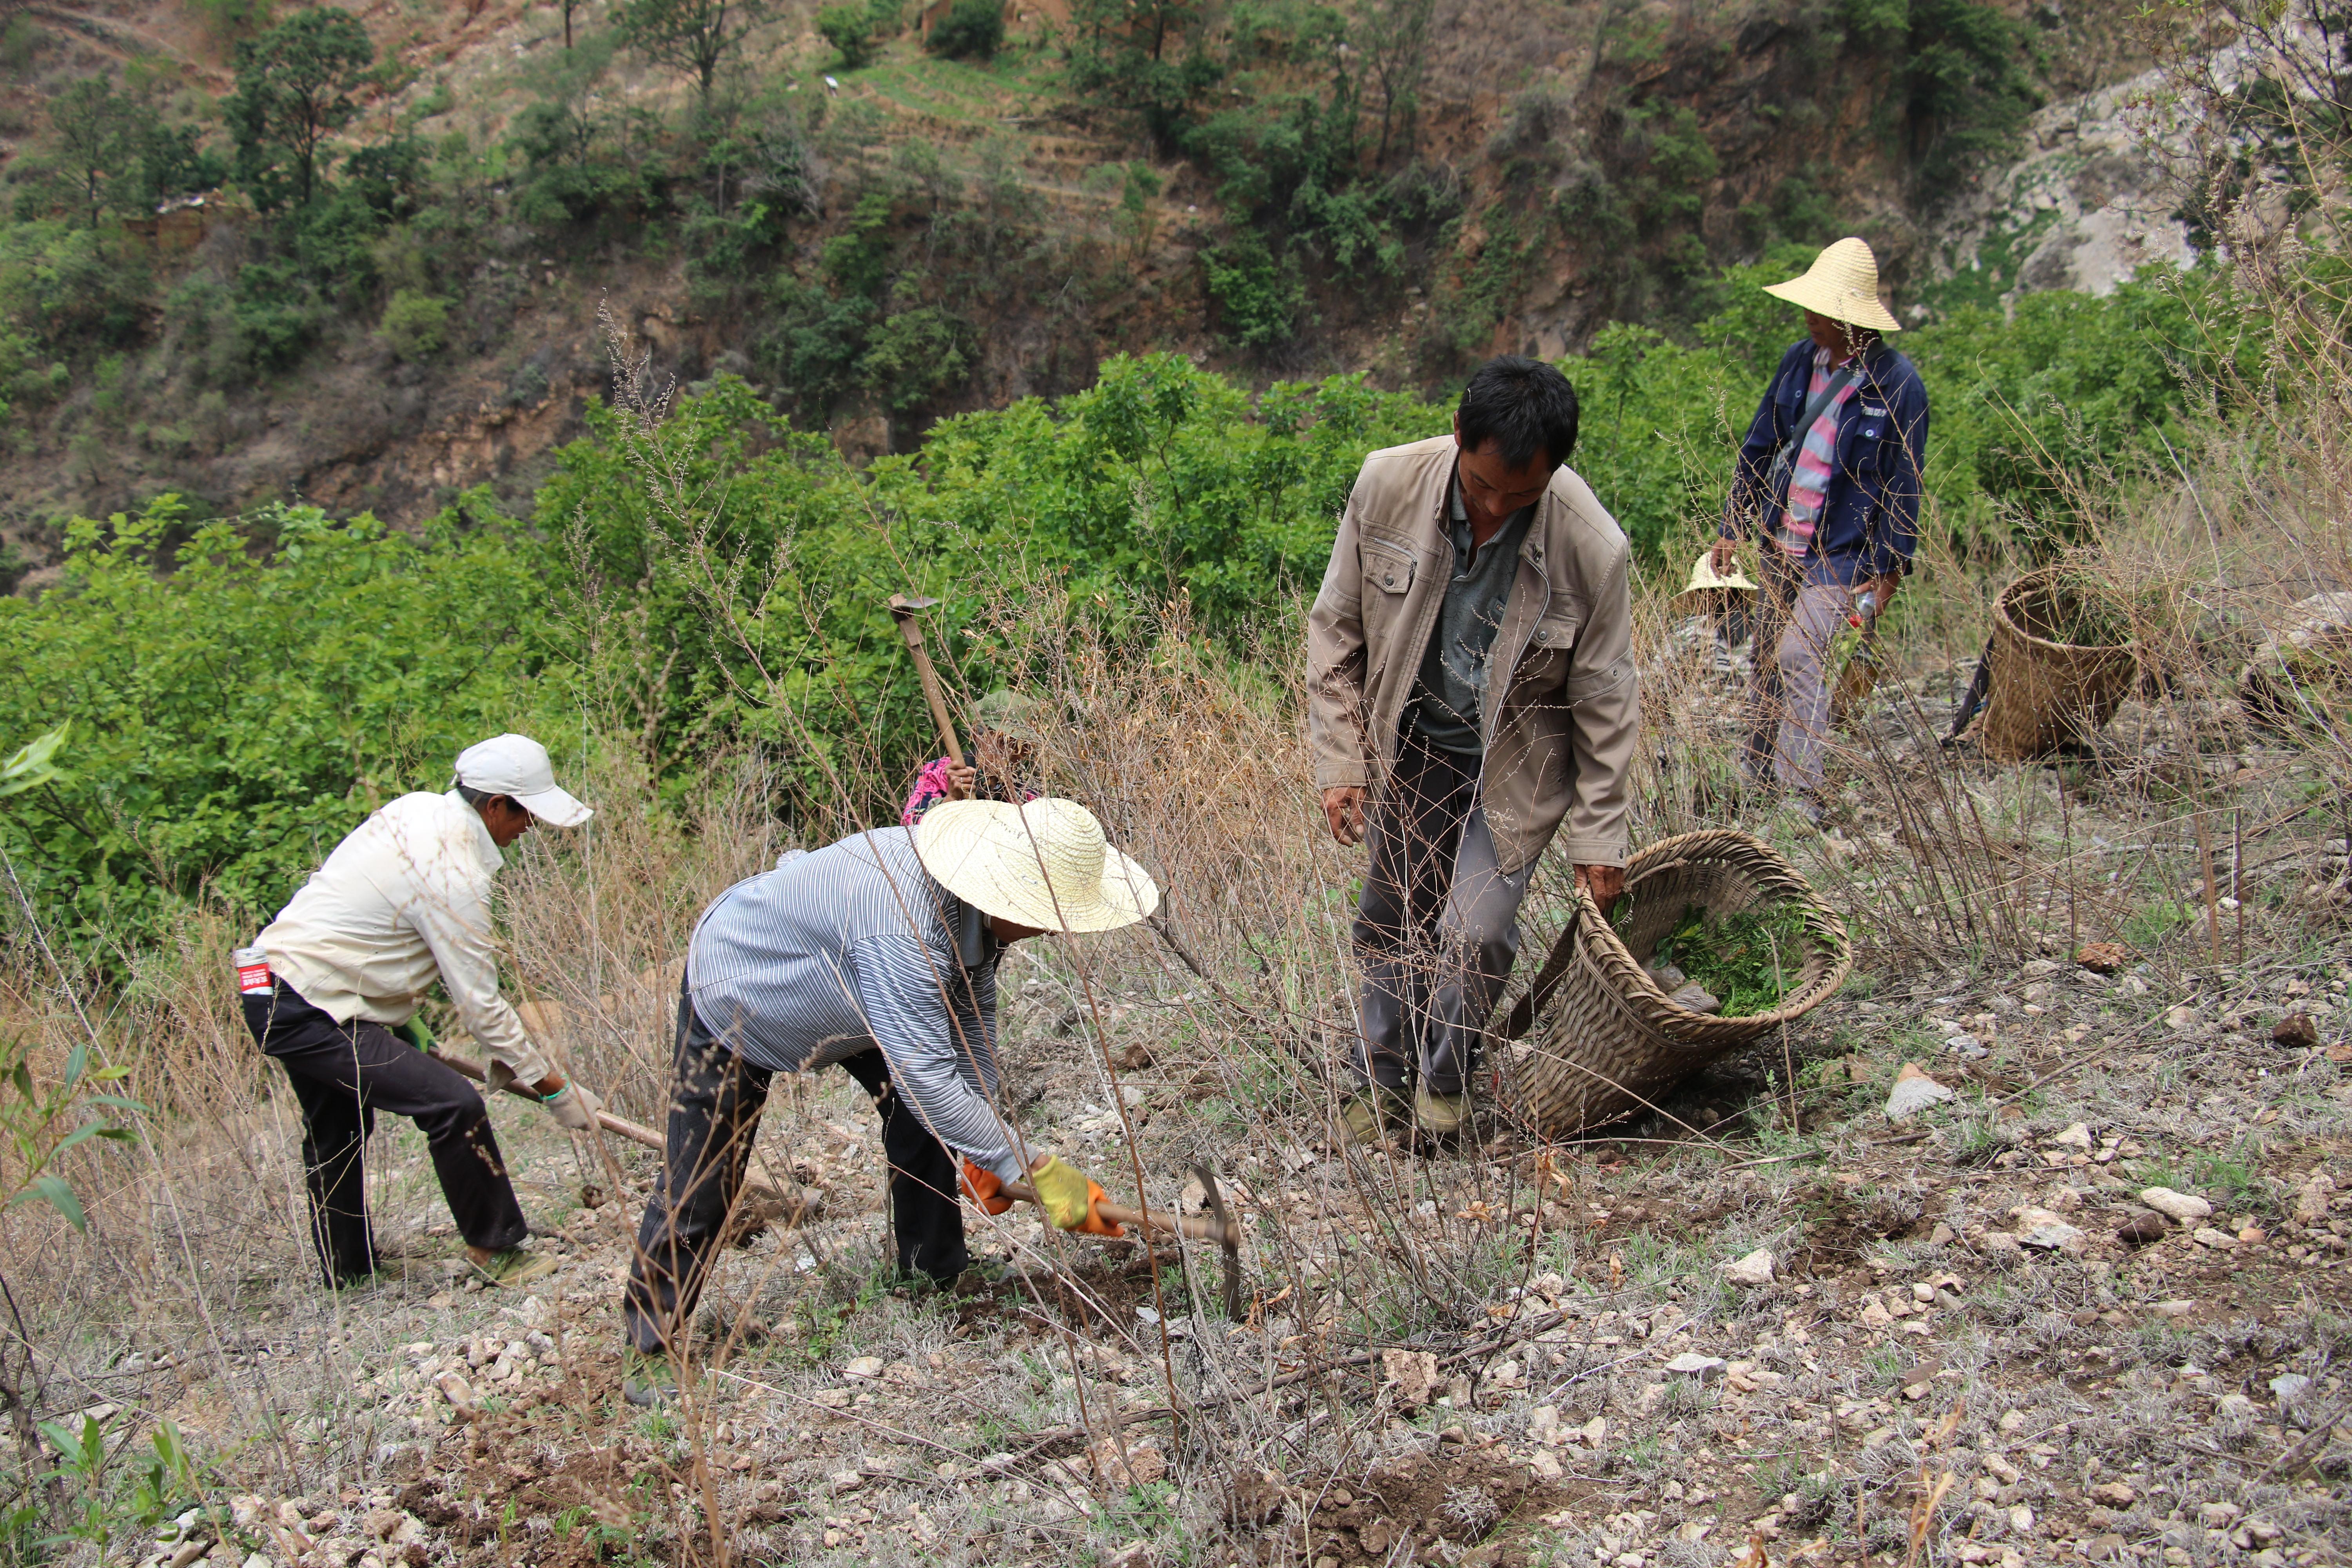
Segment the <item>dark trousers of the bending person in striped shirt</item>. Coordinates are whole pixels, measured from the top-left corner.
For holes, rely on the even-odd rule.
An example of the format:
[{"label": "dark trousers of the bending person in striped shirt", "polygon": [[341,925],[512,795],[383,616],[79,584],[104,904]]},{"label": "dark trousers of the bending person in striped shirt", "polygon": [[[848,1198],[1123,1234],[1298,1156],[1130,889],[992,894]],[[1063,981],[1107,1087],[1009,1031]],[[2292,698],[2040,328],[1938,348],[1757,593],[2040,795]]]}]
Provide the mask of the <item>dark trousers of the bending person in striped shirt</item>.
[{"label": "dark trousers of the bending person in striped shirt", "polygon": [[[955,1157],[891,1091],[880,1051],[851,1056],[842,1070],[866,1086],[882,1114],[898,1267],[950,1284],[971,1265]],[[644,1201],[621,1302],[628,1340],[642,1352],[670,1345],[694,1316],[722,1251],[727,1213],[743,1190],[771,1077],[713,1039],[694,1016],[694,1001],[680,994],[661,1180]]]}]

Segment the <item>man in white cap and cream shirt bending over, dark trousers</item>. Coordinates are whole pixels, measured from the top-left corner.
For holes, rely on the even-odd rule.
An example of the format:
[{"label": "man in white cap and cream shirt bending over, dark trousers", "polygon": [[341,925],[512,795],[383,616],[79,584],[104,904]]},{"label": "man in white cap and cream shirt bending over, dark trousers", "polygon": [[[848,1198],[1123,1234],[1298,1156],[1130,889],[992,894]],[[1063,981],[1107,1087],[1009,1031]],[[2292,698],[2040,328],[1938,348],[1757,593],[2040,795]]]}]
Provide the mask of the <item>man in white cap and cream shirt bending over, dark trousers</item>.
[{"label": "man in white cap and cream shirt bending over, dark trousers", "polygon": [[482,1279],[522,1284],[555,1267],[522,1251],[529,1227],[482,1095],[426,1056],[416,1006],[437,978],[489,1051],[494,1088],[520,1079],[562,1126],[595,1126],[597,1098],[539,1053],[499,994],[489,919],[499,851],[534,820],[579,827],[588,816],[555,788],[548,748],[527,736],[482,741],[459,755],[447,795],[402,795],[360,823],[238,954],[245,1025],[301,1103],[310,1234],[329,1284],[379,1267],[362,1168],[379,1110],[423,1131]]}]

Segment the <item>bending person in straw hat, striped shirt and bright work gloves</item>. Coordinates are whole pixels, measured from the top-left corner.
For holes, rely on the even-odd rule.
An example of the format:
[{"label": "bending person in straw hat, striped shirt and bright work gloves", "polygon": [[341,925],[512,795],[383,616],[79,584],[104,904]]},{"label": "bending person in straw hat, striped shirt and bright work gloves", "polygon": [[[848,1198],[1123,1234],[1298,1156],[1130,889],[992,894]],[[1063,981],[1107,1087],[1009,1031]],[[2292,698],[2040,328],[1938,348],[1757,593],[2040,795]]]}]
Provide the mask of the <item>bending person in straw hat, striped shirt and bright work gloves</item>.
[{"label": "bending person in straw hat, striped shirt and bright work gloves", "polygon": [[856,832],[739,882],[687,945],[661,1185],[637,1227],[623,1312],[644,1363],[682,1349],[776,1072],[840,1065],[882,1114],[898,1267],[969,1265],[962,1187],[1004,1213],[1028,1180],[1063,1229],[1120,1234],[1103,1190],[997,1114],[997,961],[1044,931],[1112,931],[1160,905],[1150,875],[1068,799],[955,799],[915,827]]}]

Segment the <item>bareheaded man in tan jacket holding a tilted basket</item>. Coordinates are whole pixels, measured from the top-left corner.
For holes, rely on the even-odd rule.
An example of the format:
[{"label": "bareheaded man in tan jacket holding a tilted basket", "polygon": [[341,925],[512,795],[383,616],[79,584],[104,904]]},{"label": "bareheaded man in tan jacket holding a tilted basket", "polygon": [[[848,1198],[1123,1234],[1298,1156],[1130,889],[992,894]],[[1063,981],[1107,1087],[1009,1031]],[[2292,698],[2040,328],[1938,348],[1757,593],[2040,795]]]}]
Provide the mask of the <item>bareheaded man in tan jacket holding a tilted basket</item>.
[{"label": "bareheaded man in tan jacket holding a tilted basket", "polygon": [[1451,437],[1364,458],[1308,616],[1315,783],[1331,835],[1371,839],[1359,1143],[1406,1117],[1437,1138],[1468,1119],[1519,898],[1562,820],[1576,882],[1604,912],[1625,891],[1642,724],[1628,550],[1566,468],[1573,447],[1566,376],[1491,360]]}]

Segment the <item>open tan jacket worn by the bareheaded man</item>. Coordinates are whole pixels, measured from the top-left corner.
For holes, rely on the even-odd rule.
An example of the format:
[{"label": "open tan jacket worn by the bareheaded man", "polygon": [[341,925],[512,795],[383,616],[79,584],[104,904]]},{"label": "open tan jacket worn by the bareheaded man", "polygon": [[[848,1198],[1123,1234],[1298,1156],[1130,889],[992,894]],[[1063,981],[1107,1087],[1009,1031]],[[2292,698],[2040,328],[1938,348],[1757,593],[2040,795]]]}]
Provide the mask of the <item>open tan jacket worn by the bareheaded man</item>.
[{"label": "open tan jacket worn by the bareheaded man", "polygon": [[[1315,785],[1376,785],[1397,762],[1404,703],[1421,675],[1454,541],[1444,529],[1454,437],[1364,458],[1308,614],[1308,738]],[[1632,668],[1628,548],[1569,468],[1536,503],[1494,639],[1482,715],[1479,799],[1503,872],[1569,823],[1576,865],[1623,865],[1642,689]],[[1510,679],[1501,679],[1503,672]]]}]

